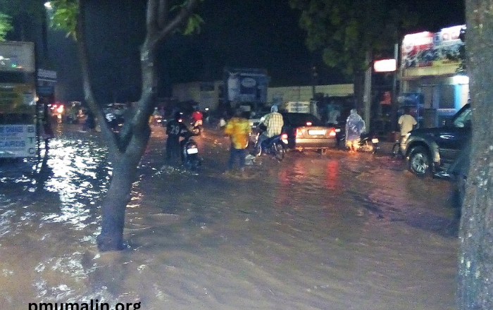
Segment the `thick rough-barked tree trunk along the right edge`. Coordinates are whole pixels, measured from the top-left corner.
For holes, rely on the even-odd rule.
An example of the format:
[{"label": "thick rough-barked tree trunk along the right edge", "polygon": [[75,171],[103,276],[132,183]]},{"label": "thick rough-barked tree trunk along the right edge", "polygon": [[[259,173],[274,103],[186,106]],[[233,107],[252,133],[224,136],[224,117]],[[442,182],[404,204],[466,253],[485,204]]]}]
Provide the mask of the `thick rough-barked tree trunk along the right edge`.
[{"label": "thick rough-barked tree trunk along the right edge", "polygon": [[458,259],[459,309],[493,309],[493,0],[466,0],[473,149]]}]

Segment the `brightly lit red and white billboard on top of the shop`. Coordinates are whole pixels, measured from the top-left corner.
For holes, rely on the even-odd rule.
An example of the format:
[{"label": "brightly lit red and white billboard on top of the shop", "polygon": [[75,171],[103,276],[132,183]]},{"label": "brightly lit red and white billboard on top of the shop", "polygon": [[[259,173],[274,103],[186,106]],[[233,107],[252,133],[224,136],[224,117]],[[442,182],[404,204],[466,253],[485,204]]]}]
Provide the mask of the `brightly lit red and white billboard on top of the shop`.
[{"label": "brightly lit red and white billboard on top of the shop", "polygon": [[420,68],[458,64],[461,58],[461,30],[466,25],[443,28],[439,32],[405,35],[401,47],[403,68]]}]

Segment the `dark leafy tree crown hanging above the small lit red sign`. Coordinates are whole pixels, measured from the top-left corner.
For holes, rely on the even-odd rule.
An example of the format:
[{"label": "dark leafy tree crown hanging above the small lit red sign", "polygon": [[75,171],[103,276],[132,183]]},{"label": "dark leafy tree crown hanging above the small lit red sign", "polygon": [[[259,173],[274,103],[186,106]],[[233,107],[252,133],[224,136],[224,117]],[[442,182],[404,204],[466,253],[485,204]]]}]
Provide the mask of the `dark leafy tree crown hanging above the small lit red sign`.
[{"label": "dark leafy tree crown hanging above the small lit red sign", "polygon": [[300,25],[306,30],[306,45],[322,50],[327,66],[354,77],[355,94],[361,106],[363,74],[370,66],[368,55],[393,50],[417,20],[406,2],[396,0],[289,0],[301,11]]}]

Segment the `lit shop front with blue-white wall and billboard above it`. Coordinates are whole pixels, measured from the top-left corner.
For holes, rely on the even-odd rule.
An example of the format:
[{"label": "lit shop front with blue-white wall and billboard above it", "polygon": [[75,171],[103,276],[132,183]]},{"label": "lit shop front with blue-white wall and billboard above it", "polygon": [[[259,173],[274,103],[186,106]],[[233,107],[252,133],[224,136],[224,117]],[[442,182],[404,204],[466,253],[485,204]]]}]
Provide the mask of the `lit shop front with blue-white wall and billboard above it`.
[{"label": "lit shop front with blue-white wall and billboard above it", "polygon": [[462,70],[465,27],[404,36],[398,101],[400,106],[416,105],[423,127],[439,125],[468,102],[469,79]]}]

